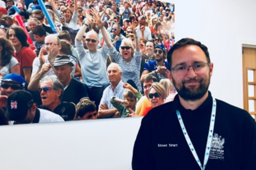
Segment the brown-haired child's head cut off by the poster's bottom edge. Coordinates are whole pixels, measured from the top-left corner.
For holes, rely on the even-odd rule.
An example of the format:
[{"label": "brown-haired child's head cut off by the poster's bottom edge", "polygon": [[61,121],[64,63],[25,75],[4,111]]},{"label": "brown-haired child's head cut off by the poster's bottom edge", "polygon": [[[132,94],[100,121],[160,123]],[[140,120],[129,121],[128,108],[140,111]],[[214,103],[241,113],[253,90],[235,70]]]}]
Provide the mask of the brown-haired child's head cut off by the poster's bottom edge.
[{"label": "brown-haired child's head cut off by the poster's bottom edge", "polygon": [[96,105],[87,98],[82,99],[76,105],[76,110],[77,110],[78,120],[98,119]]}]

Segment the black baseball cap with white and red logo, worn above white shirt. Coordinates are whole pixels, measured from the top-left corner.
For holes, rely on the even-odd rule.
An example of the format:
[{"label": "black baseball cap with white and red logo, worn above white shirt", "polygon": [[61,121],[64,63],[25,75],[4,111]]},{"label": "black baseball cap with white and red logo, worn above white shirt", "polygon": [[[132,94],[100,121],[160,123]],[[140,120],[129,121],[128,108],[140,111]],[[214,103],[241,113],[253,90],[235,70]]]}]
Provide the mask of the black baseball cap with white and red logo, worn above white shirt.
[{"label": "black baseball cap with white and red logo, worn above white shirt", "polygon": [[33,96],[25,90],[17,90],[7,99],[7,116],[10,121],[22,121],[34,104]]}]

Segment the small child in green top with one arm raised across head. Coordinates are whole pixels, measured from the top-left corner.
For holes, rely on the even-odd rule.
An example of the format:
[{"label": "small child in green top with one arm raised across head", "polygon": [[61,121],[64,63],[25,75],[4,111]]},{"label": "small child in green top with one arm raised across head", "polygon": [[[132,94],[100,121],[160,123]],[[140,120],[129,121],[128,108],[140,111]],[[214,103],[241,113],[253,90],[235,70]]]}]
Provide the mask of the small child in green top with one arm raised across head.
[{"label": "small child in green top with one arm raised across head", "polygon": [[131,112],[129,111],[129,109],[135,112],[136,103],[142,97],[141,93],[128,83],[124,83],[123,88],[126,88],[123,94],[124,100],[116,97],[112,97],[110,99],[111,104],[118,110],[121,118],[130,117]]}]

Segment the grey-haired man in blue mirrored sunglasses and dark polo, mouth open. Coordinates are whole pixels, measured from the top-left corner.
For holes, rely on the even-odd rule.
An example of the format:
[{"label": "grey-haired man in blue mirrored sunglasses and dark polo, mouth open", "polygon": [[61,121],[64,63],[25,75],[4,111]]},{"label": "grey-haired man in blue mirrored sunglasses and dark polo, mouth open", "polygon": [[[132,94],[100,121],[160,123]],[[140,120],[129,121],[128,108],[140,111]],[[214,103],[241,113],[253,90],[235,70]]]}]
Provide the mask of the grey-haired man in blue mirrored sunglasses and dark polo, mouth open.
[{"label": "grey-haired man in blue mirrored sunglasses and dark polo, mouth open", "polygon": [[42,105],[38,108],[60,115],[64,121],[72,121],[76,118],[76,105],[62,101],[64,87],[57,77],[45,76],[38,90],[42,100]]}]

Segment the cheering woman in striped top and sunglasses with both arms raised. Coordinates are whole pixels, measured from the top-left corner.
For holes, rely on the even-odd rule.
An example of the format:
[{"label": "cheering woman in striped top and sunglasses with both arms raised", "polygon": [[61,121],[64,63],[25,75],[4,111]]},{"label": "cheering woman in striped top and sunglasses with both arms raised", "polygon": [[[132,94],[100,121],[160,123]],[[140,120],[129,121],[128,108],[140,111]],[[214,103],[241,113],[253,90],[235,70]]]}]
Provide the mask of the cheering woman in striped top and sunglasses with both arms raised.
[{"label": "cheering woman in striped top and sunglasses with both arms raised", "polygon": [[[99,13],[92,9],[94,23],[96,23],[102,32],[102,35],[105,39],[105,43],[107,44],[108,51],[110,56],[114,58],[117,64],[120,65],[122,69],[122,81],[127,82],[128,80],[132,80],[136,88],[141,91],[141,83],[140,83],[140,64],[141,64],[141,50],[139,47],[139,39],[137,34],[134,33],[135,38],[135,46],[134,49],[133,43],[130,39],[125,38],[122,40],[119,51],[111,44],[111,41],[108,39],[108,33],[106,28],[104,27],[104,22],[101,21]],[[133,27],[134,31],[134,27]]]}]

